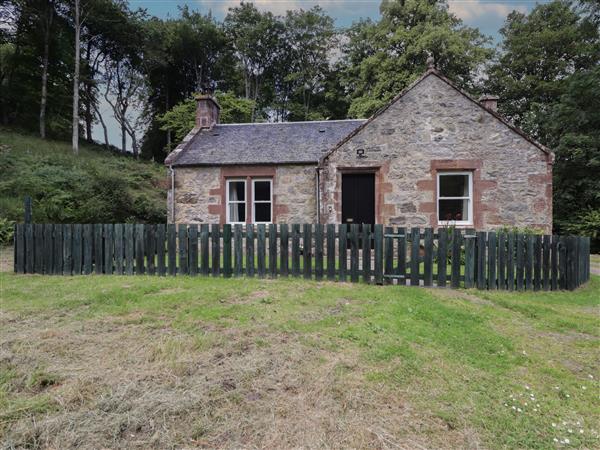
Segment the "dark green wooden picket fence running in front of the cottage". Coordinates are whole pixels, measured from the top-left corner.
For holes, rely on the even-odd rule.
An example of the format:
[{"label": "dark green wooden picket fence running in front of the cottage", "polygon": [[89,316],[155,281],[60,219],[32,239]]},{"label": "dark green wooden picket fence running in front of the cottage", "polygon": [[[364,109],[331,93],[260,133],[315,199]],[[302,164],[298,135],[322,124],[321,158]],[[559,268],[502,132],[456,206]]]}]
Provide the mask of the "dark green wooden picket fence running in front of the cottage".
[{"label": "dark green wooden picket fence running in front of the cottage", "polygon": [[17,224],[17,273],[303,277],[452,288],[575,289],[590,239],[375,225]]}]

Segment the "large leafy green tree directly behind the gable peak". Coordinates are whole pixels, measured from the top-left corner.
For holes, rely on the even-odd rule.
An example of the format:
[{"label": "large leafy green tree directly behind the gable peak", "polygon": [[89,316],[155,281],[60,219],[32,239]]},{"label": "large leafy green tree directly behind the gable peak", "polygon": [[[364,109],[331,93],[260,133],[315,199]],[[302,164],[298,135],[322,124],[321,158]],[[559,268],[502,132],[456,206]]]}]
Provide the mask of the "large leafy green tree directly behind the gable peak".
[{"label": "large leafy green tree directly behind the gable peak", "polygon": [[492,55],[490,39],[463,25],[445,0],[384,0],[380,11],[378,23],[351,29],[345,45],[350,116],[385,105],[425,71],[428,55],[459,86],[475,89],[477,69]]}]

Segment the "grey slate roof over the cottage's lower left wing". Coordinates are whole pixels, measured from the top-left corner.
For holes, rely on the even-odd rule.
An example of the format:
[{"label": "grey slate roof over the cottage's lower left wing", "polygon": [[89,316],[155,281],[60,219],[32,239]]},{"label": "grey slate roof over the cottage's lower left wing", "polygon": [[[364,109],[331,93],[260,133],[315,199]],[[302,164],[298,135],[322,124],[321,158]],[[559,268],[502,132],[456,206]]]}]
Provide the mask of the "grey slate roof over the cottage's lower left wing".
[{"label": "grey slate roof over the cottage's lower left wing", "polygon": [[192,130],[165,161],[173,166],[316,164],[365,120],[215,125]]}]

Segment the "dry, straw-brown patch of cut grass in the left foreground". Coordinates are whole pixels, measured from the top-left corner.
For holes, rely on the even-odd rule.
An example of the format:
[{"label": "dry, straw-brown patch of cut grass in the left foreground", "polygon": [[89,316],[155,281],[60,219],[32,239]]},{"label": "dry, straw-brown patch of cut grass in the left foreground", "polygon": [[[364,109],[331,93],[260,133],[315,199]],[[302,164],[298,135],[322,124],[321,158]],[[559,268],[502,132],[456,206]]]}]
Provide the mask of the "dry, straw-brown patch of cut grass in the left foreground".
[{"label": "dry, straw-brown patch of cut grass in the left foreground", "polygon": [[356,352],[294,334],[5,319],[2,365],[20,374],[43,366],[59,380],[44,388],[48,412],[0,426],[7,448],[425,448],[472,439],[414,411],[398,387],[367,382]]}]

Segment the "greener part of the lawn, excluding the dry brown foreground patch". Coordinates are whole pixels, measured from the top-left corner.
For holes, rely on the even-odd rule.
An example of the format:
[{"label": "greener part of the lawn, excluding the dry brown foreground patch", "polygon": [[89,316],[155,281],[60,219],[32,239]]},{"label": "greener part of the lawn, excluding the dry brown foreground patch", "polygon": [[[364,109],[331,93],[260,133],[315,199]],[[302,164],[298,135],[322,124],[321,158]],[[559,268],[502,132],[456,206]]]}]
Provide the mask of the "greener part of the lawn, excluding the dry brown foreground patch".
[{"label": "greener part of the lawn, excluding the dry brown foreground patch", "polygon": [[[576,292],[535,293],[201,277],[0,274],[0,282],[11,323],[52,318],[85,333],[86,324],[113,320],[170,330],[180,338],[161,341],[158,360],[233,345],[224,337],[233,330],[258,347],[287,345],[267,334],[288,336],[323,358],[357,353],[357,366],[336,366],[337,380],[360,373],[365,390],[391,388],[484,447],[600,445],[600,277]],[[40,369],[36,379],[45,381],[19,384],[23,368],[0,370],[9,434],[25,416],[55,414],[61,407],[48,387],[74,376]],[[202,424],[202,434],[216,426]],[[425,442],[440,445],[445,432],[424,431]]]}]

